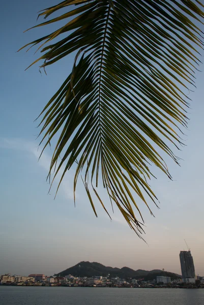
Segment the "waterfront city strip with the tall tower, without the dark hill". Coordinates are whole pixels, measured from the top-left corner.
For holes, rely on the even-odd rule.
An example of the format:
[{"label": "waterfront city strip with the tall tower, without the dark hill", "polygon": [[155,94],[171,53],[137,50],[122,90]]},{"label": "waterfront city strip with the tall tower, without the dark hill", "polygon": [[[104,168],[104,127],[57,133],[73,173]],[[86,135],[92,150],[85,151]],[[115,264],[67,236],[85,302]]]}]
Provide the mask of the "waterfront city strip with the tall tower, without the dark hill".
[{"label": "waterfront city strip with the tall tower, without the dark hill", "polygon": [[[204,288],[204,277],[195,276],[193,257],[190,250],[180,252],[182,277],[172,273],[174,277],[156,276],[153,280],[144,278],[120,278],[107,276],[80,277],[74,275],[45,276],[44,274],[31,273],[28,276],[2,275],[1,285],[13,286],[65,286],[65,287],[119,287],[119,288]],[[81,265],[78,265],[80,269]],[[67,269],[68,270],[68,269]],[[65,272],[65,271],[64,271]],[[63,272],[63,273],[64,273]],[[165,271],[162,270],[165,274]],[[156,274],[156,273],[155,273]],[[153,273],[154,275],[154,273]]]}]

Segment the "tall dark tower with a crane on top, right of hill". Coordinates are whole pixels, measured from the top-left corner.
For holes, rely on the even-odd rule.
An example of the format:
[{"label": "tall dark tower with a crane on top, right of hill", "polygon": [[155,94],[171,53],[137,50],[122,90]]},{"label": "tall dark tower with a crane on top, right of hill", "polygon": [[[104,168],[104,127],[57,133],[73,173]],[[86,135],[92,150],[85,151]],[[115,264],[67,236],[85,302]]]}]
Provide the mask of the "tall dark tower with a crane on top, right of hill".
[{"label": "tall dark tower with a crane on top, right of hill", "polygon": [[195,280],[195,268],[191,252],[181,251],[179,256],[183,281],[185,283],[190,283],[188,279]]}]

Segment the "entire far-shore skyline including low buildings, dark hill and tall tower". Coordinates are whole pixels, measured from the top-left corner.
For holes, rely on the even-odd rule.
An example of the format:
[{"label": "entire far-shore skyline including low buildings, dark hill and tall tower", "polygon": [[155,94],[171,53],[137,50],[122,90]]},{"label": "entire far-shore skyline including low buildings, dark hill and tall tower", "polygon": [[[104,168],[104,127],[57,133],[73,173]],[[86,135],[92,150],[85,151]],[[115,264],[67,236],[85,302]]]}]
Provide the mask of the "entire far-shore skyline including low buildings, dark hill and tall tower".
[{"label": "entire far-shore skyline including low buildings, dark hill and tall tower", "polygon": [[[108,287],[108,281],[110,280],[112,281],[112,285],[116,284],[120,287],[126,284],[136,285],[134,287],[140,287],[140,284],[142,287],[148,287],[148,285],[156,286],[157,284],[159,286],[164,285],[165,287],[168,287],[168,285],[171,287],[183,285],[183,288],[187,288],[189,285],[199,286],[201,284],[203,286],[204,277],[195,276],[194,263],[190,249],[188,251],[180,252],[180,263],[182,276],[165,271],[164,269],[152,271],[145,271],[141,269],[132,270],[128,267],[115,269],[97,262],[81,261],[75,266],[72,266],[71,268],[61,271],[53,276],[47,276],[43,273],[31,273],[28,276],[11,275],[10,273],[0,275],[0,285],[64,285],[70,287],[77,284],[77,286],[80,287],[92,285],[99,285],[99,287],[102,285],[103,287]],[[139,284],[137,282],[139,282]]]}]

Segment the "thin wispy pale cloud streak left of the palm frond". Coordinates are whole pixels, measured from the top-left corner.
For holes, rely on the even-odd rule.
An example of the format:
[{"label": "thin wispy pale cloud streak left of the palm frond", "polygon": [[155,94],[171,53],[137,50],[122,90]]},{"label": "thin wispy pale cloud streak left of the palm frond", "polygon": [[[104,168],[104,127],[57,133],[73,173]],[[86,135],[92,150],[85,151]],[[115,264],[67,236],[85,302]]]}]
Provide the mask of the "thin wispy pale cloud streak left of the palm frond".
[{"label": "thin wispy pale cloud streak left of the palm frond", "polygon": [[[0,139],[0,148],[5,149],[14,149],[14,150],[21,150],[26,151],[33,156],[36,161],[39,159],[41,154],[41,149],[39,146],[32,141],[26,141],[21,138],[1,138]],[[48,173],[49,167],[51,162],[51,156],[47,154],[46,151],[43,151],[43,154],[41,155],[41,158],[38,161],[38,164],[46,170]],[[62,168],[59,171],[59,174],[56,176],[55,181],[59,183],[60,177],[64,171],[65,167],[62,166]],[[59,189],[63,192],[64,196],[68,199],[73,199],[73,189],[70,187],[70,179],[68,175],[65,175],[61,187]]]}]

